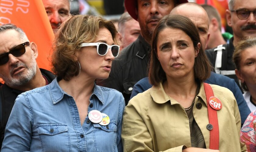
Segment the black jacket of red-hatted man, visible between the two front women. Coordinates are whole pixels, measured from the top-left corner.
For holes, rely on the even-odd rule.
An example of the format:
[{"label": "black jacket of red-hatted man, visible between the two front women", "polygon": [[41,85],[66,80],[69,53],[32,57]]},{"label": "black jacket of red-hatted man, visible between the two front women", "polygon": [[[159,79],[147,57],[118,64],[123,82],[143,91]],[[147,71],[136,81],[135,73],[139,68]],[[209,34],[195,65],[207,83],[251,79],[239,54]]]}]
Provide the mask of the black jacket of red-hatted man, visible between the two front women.
[{"label": "black jacket of red-hatted man, visible between the two front women", "polygon": [[127,105],[133,85],[148,76],[150,51],[151,46],[140,35],[113,61],[108,79],[97,82],[97,85],[118,90],[123,94]]}]

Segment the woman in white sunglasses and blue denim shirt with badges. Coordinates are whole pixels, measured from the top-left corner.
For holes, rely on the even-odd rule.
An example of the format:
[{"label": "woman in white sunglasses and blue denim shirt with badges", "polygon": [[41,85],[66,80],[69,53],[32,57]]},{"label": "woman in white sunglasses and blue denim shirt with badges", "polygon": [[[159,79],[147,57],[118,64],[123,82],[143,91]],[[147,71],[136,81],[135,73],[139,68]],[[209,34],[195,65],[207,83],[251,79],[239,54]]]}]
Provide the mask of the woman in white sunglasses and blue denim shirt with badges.
[{"label": "woman in white sunglasses and blue denim shirt with badges", "polygon": [[51,84],[19,95],[1,151],[123,151],[124,98],[100,87],[119,53],[117,31],[101,17],[71,16],[57,33]]}]

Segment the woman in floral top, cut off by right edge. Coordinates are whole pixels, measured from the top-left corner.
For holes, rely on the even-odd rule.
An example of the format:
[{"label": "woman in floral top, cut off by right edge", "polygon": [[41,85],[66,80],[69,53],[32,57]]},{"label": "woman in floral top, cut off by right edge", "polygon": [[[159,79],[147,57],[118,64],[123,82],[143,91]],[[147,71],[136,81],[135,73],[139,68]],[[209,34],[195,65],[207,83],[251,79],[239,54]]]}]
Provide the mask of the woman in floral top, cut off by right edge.
[{"label": "woman in floral top, cut off by right edge", "polygon": [[244,99],[252,111],[241,128],[240,140],[245,143],[248,152],[256,150],[256,38],[250,37],[237,43],[233,61],[236,76],[244,90]]}]

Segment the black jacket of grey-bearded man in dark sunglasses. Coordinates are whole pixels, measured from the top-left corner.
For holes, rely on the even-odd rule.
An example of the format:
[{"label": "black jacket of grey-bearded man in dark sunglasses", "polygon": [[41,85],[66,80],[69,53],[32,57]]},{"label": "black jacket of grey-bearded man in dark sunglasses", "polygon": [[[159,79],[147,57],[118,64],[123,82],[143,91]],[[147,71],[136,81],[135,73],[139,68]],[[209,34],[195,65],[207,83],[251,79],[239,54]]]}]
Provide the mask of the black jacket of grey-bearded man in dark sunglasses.
[{"label": "black jacket of grey-bearded man in dark sunglasses", "polygon": [[[40,69],[42,75],[48,80],[49,83],[52,82],[52,80],[55,78],[55,75],[52,74],[52,72]],[[10,113],[12,111],[12,107],[14,105],[14,101],[17,98],[18,95],[23,93],[20,90],[16,90],[13,88],[10,88],[6,84],[2,85],[0,87],[0,145],[2,147],[2,142],[4,140],[4,133],[5,133],[5,126],[7,124],[8,118],[10,116]],[[1,149],[0,147],[0,149]]]}]

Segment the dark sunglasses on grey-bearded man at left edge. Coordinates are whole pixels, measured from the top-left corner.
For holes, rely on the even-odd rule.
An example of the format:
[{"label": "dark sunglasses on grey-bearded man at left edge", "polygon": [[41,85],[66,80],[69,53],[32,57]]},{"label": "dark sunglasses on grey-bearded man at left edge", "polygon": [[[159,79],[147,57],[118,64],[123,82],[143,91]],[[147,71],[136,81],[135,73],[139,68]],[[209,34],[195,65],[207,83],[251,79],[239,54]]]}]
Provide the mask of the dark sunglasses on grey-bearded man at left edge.
[{"label": "dark sunglasses on grey-bearded man at left edge", "polygon": [[26,52],[25,45],[30,45],[30,43],[22,43],[16,47],[13,47],[9,52],[0,54],[0,65],[4,65],[9,61],[9,54],[12,54],[14,57],[22,56]]}]

